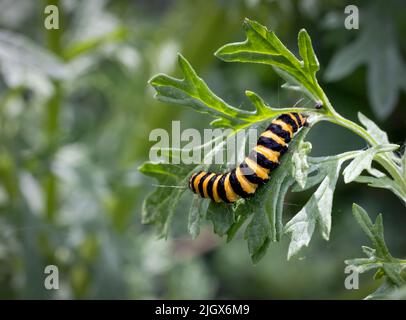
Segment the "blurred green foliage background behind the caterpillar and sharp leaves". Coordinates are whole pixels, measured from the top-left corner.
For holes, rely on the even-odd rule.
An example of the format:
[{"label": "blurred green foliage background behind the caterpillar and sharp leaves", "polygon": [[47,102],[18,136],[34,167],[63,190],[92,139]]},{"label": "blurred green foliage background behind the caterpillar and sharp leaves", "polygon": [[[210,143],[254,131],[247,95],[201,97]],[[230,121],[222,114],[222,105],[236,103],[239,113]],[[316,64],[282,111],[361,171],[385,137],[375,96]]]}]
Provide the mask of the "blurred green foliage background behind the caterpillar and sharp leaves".
[{"label": "blurred green foliage background behind the caterpillar and sharp leaves", "polygon": [[[44,8],[59,8],[59,30]],[[359,7],[360,29],[344,27]],[[406,129],[406,12],[401,0],[0,0],[0,298],[21,299],[359,299],[378,287],[362,275],[344,288],[344,260],[369,245],[351,214],[357,202],[384,216],[394,256],[406,257],[406,214],[390,192],[345,185],[335,193],[331,240],[315,237],[286,261],[288,241],[271,244],[253,266],[242,236],[226,244],[211,225],[192,240],[185,206],[170,236],[141,224],[155,181],[148,160],[155,128],[203,129],[209,118],[153,99],[148,79],[179,76],[181,52],[219,96],[246,104],[244,90],[269,104],[298,100],[270,67],[226,64],[221,45],[245,39],[244,17],[272,27],[296,52],[300,28],[313,39],[319,79],[335,108],[361,111],[403,144]],[[322,124],[310,134],[314,155],[365,147]],[[290,194],[288,219],[308,194]],[[185,198],[185,203],[191,197]],[[44,288],[44,268],[59,268],[59,290]]]}]

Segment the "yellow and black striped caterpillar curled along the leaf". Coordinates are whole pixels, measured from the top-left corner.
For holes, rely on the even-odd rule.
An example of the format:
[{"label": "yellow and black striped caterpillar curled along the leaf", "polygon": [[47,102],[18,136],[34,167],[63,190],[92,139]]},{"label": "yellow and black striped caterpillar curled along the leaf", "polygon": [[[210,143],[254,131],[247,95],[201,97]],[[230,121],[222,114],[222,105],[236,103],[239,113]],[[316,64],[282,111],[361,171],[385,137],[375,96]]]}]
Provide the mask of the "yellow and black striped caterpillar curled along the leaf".
[{"label": "yellow and black striped caterpillar curled along the leaf", "polygon": [[269,180],[268,174],[278,167],[293,134],[306,123],[306,117],[296,112],[280,115],[260,135],[257,145],[237,168],[220,174],[197,172],[189,178],[189,188],[215,202],[235,202],[254,195],[258,186]]}]

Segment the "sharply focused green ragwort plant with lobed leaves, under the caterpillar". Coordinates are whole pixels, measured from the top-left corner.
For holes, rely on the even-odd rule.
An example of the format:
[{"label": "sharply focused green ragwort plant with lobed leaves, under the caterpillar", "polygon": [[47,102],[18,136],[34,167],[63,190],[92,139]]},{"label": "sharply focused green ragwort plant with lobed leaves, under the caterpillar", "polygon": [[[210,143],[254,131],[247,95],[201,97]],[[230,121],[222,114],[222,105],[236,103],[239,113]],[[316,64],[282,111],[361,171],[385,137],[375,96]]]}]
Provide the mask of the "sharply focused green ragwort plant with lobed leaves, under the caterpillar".
[{"label": "sharply focused green ragwort plant with lobed leaves, under the caterpillar", "polygon": [[[199,234],[200,221],[207,219],[212,222],[216,234],[231,241],[246,223],[244,237],[254,263],[264,256],[270,242],[278,242],[284,235],[290,237],[287,253],[290,259],[309,245],[316,229],[325,240],[329,239],[333,195],[344,163],[348,163],[342,171],[345,183],[366,183],[373,188],[387,189],[406,205],[406,153],[400,155],[396,152],[400,146],[390,143],[387,134],[363,114],[358,114],[361,124],[357,124],[336,111],[317,81],[316,74],[320,66],[306,30],[302,29],[298,35],[298,58],[273,31],[261,24],[246,19],[244,29],[247,36],[245,41],[226,44],[218,49],[215,56],[225,62],[270,65],[285,80],[283,88],[303,93],[316,107],[274,108],[266,104],[258,94],[246,91],[254,110],[236,108],[216,96],[180,54],[178,63],[183,79],[158,74],[150,80],[158,100],[207,113],[214,118],[211,122],[213,127],[231,128],[233,135],[244,128],[269,123],[282,113],[301,112],[309,115],[309,126],[292,140],[289,152],[282,157],[280,166],[270,174],[270,181],[257,190],[254,197],[241,199],[231,205],[215,203],[194,195],[189,211],[188,229],[191,235],[196,237]],[[368,148],[325,157],[309,156],[311,143],[305,141],[306,136],[322,121],[352,131],[365,140]],[[224,143],[216,145],[206,157],[213,157],[223,147]],[[189,151],[168,149],[163,152],[170,158]],[[374,163],[379,164],[381,170],[373,167]],[[175,185],[180,188],[158,187],[149,194],[143,204],[143,222],[156,225],[159,234],[166,237],[174,209],[187,190],[189,176],[197,170],[208,169],[220,171],[226,167],[144,163],[140,167],[142,173],[156,178],[160,185]],[[283,203],[288,190],[302,192],[316,186],[303,208],[284,224]],[[365,210],[356,204],[353,205],[353,214],[373,247],[363,247],[367,258],[348,260],[346,264],[352,265],[360,273],[377,269],[375,277],[385,277],[384,284],[369,298],[390,297],[399,290],[404,290],[399,288],[406,284],[403,271],[406,260],[394,258],[389,253],[383,236],[382,216],[378,215],[375,223],[372,223]]]}]

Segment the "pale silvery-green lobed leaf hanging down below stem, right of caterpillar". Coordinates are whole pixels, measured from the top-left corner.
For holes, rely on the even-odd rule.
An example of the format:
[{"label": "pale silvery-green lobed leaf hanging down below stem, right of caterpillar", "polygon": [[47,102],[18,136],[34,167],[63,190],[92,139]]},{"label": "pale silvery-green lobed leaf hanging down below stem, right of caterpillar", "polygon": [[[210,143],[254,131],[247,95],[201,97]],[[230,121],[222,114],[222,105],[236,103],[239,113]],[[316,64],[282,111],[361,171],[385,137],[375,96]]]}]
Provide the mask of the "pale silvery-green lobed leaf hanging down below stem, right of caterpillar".
[{"label": "pale silvery-green lobed leaf hanging down below stem, right of caterpillar", "polygon": [[329,239],[333,194],[341,161],[326,162],[324,165],[327,175],[305,206],[285,225],[284,232],[291,236],[288,259],[299,253],[304,246],[309,245],[316,224],[323,238]]}]

